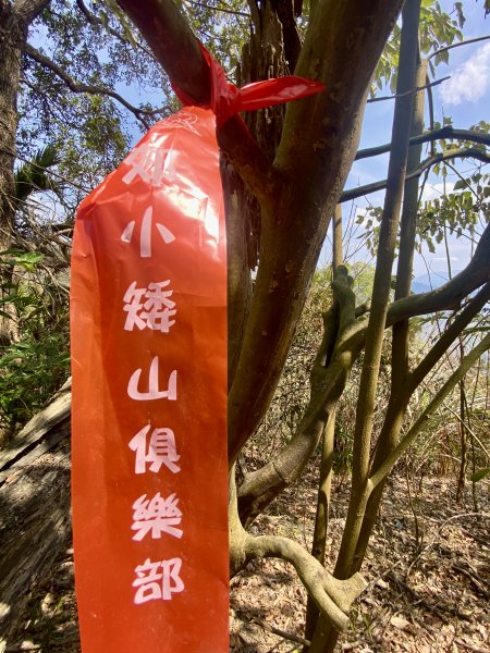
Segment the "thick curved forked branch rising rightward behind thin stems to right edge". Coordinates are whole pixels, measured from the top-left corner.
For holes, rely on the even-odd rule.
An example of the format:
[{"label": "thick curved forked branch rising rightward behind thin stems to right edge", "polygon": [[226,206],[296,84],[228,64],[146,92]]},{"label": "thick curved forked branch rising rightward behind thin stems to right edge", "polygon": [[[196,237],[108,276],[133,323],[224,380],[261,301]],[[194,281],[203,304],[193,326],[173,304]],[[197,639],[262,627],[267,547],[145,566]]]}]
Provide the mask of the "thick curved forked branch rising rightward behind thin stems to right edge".
[{"label": "thick curved forked branch rising rightward behind thin stems to right edge", "polygon": [[[409,295],[393,301],[388,308],[385,326],[402,320],[440,310],[455,309],[461,301],[490,281],[490,225],[488,225],[468,266],[443,286],[429,293]],[[324,337],[311,370],[311,397],[305,416],[291,442],[261,469],[250,473],[238,490],[240,513],[249,523],[285,486],[294,482],[318,445],[326,420],[334,409],[351,371],[362,350],[367,321],[353,319],[350,279],[340,268],[334,292],[339,300],[342,329],[335,331],[335,311],[324,320]],[[487,289],[471,300],[475,309],[483,301]],[[466,311],[465,311],[466,312]],[[463,319],[463,318],[462,318]],[[452,330],[451,330],[452,332]],[[438,349],[451,337],[441,338]]]}]

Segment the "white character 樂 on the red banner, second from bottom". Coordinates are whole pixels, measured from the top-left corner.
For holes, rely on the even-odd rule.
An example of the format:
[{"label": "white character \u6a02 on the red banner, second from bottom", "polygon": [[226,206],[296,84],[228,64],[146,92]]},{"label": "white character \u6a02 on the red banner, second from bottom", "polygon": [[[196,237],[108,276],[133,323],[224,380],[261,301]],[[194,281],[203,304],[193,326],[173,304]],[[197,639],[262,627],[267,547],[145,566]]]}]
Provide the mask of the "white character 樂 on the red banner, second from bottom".
[{"label": "white character \u6a02 on the red banner, second from bottom", "polygon": [[162,498],[160,492],[154,498],[146,498],[143,494],[133,504],[132,530],[137,531],[133,540],[140,542],[151,531],[151,539],[160,539],[161,533],[168,533],[174,538],[182,538],[183,531],[175,528],[182,521],[182,513],[177,507],[179,498],[172,493]]}]

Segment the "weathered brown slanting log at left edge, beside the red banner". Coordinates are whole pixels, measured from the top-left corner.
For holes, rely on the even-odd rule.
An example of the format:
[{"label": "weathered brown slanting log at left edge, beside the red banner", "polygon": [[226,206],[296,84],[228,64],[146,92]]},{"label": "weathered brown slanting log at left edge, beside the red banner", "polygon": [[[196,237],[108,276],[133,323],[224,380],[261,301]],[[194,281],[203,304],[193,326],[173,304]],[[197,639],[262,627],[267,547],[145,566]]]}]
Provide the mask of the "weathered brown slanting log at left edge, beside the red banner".
[{"label": "weathered brown slanting log at left edge, beside the red banner", "polygon": [[[66,382],[0,456],[0,632],[14,634],[29,589],[71,537]],[[0,639],[0,651],[5,640]]]}]

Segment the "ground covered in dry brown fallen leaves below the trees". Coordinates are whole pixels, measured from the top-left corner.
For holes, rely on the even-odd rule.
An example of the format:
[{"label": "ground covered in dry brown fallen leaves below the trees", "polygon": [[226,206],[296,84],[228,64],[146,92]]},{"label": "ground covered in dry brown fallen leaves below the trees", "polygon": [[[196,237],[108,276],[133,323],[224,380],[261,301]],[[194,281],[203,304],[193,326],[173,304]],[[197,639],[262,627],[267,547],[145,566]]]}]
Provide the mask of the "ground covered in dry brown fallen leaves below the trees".
[{"label": "ground covered in dry brown fallen leaves below the trees", "polygon": [[[354,605],[339,650],[490,653],[490,492],[482,483],[477,486],[476,512],[470,486],[460,504],[448,479],[425,478],[409,491],[408,486],[403,475],[387,486],[363,567],[368,587]],[[309,546],[315,495],[315,475],[309,471],[253,530]],[[347,488],[334,489],[332,498],[329,569],[342,533]],[[32,589],[17,642],[5,653],[81,651],[72,553],[66,551],[49,578]],[[231,581],[230,651],[301,651],[293,640],[303,638],[305,605],[306,592],[291,565],[275,559],[250,563]]]}]

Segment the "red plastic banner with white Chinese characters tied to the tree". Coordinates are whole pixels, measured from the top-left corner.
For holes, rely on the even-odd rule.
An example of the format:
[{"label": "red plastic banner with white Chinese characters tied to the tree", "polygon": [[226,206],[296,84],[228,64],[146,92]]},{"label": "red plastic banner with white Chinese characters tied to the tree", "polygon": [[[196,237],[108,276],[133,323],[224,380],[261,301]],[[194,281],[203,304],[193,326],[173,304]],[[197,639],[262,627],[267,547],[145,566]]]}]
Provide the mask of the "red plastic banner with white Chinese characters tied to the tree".
[{"label": "red plastic banner with white Chinese characters tied to the tree", "polygon": [[72,504],[84,653],[229,650],[216,126],[323,87],[290,77],[236,89],[204,53],[210,108],[155,125],[75,223]]}]

